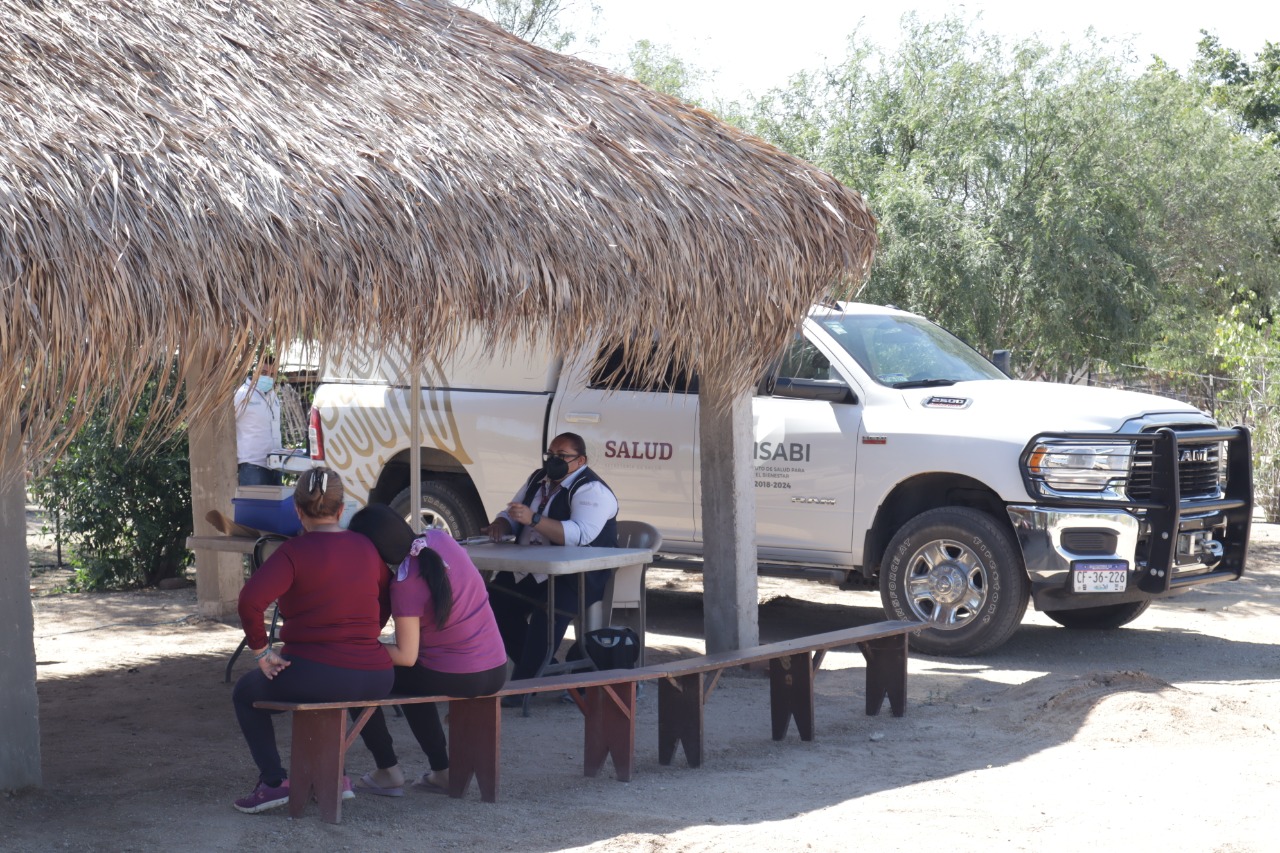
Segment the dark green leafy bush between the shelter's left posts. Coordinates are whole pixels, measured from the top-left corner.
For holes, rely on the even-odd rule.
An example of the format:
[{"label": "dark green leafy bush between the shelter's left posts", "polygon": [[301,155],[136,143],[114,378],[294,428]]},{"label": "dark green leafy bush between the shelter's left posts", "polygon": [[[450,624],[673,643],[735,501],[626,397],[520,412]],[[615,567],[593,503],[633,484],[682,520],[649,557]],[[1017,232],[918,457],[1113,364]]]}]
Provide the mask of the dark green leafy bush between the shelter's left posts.
[{"label": "dark green leafy bush between the shelter's left posts", "polygon": [[70,537],[81,589],[151,587],[191,561],[187,430],[157,434],[147,412],[180,393],[177,374],[151,382],[125,424],[104,402],[65,452],[31,487]]}]

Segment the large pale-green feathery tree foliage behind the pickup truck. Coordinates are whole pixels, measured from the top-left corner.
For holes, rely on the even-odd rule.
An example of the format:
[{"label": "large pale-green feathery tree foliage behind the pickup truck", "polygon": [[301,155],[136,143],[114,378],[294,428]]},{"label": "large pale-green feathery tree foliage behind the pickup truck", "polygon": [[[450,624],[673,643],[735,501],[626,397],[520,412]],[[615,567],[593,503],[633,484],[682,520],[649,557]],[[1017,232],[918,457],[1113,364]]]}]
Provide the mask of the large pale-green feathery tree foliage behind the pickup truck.
[{"label": "large pale-green feathery tree foliage behind the pickup truck", "polygon": [[1178,74],[1092,44],[908,17],[897,51],[854,42],[746,127],[867,193],[882,247],[863,298],[1023,368],[1133,362],[1170,336],[1203,353],[1242,293],[1275,298],[1275,158]]}]

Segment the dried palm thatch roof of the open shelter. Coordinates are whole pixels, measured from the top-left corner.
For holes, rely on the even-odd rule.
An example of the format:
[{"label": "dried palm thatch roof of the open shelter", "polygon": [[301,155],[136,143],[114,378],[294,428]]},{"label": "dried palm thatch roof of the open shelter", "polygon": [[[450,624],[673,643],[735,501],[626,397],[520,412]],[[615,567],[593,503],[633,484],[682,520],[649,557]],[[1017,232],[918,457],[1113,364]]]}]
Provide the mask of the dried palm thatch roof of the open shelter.
[{"label": "dried palm thatch roof of the open shelter", "polygon": [[264,342],[429,356],[465,323],[660,330],[746,388],[872,259],[832,177],[443,0],[0,15],[0,398],[37,443],[174,353],[198,416]]}]

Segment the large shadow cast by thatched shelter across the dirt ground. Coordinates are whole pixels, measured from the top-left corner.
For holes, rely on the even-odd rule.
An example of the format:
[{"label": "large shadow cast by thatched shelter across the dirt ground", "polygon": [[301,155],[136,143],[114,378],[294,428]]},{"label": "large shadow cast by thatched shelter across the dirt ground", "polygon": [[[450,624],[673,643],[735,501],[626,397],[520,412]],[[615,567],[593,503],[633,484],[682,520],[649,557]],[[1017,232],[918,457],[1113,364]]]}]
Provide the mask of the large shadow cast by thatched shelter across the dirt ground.
[{"label": "large shadow cast by thatched shelter across the dirt ground", "polygon": [[[1275,575],[1249,583],[1275,585]],[[1229,619],[1239,607],[1258,617],[1275,613],[1275,596],[1258,592],[1261,587],[1251,599],[1243,584],[1219,585],[1176,606],[1202,610],[1206,619]],[[51,643],[49,631],[60,622],[78,625],[73,630],[91,646],[93,638],[111,643],[93,653],[96,669],[87,674],[55,676],[67,656],[41,654],[45,786],[0,799],[6,850],[558,850],[691,826],[765,825],[1015,765],[1078,738],[1103,702],[1132,703],[1151,726],[1199,716],[1221,724],[1234,711],[1185,685],[1248,685],[1275,676],[1274,646],[1166,628],[1153,608],[1148,628],[1139,621],[1082,633],[1028,624],[983,658],[913,656],[908,712],[893,719],[887,710],[863,713],[861,658],[833,653],[817,681],[813,743],[801,743],[794,730],[782,742],[771,740],[767,680],[733,671],[705,708],[704,766],[691,770],[678,753],[662,766],[657,690],[649,688],[639,701],[636,775],[623,785],[611,779],[611,767],[600,777],[582,776],[581,717],[572,706],[543,701],[529,719],[504,712],[498,803],[481,803],[474,785],[462,800],[361,795],[344,807],[340,825],[329,826],[314,807],[300,821],[283,811],[232,811],[230,800],[253,780],[232,713],[232,688],[221,680],[239,634],[195,617],[193,596],[59,596],[40,599],[37,612],[37,644]],[[760,637],[786,639],[882,617],[873,593],[850,593],[847,603],[778,596],[760,606]],[[699,649],[700,594],[654,589],[649,622],[652,660]],[[111,658],[115,652],[106,647],[122,640],[134,658]],[[140,654],[143,662],[129,662]],[[237,675],[244,671],[242,661]],[[1254,724],[1244,711],[1249,708],[1239,712],[1242,727]],[[410,771],[424,768],[404,722],[390,724],[402,762]],[[279,729],[287,752],[287,721]],[[352,775],[371,767],[364,747],[353,745]],[[833,774],[838,784],[832,784]],[[762,798],[760,790],[778,793]]]}]

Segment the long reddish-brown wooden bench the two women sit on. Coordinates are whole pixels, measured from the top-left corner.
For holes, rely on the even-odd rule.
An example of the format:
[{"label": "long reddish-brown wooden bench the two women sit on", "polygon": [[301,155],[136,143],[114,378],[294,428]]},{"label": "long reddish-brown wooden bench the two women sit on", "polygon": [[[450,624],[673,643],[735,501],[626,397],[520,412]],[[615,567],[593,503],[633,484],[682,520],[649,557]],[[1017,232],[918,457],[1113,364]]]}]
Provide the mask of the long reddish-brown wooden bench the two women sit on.
[{"label": "long reddish-brown wooden bench the two women sit on", "polygon": [[[893,716],[902,716],[906,707],[908,634],[922,628],[919,622],[877,622],[631,670],[573,672],[511,681],[498,693],[474,699],[389,695],[385,699],[361,702],[255,702],[253,707],[293,713],[289,815],[301,817],[307,802],[315,797],[320,804],[320,818],[337,824],[342,818],[343,756],[378,707],[447,702],[448,793],[454,798],[462,797],[475,776],[480,798],[492,803],[498,799],[502,697],[568,690],[585,720],[584,775],[595,776],[605,760],[612,758],[618,781],[630,781],[635,767],[639,683],[659,683],[659,762],[671,763],[678,743],[684,745],[689,765],[698,767],[703,758],[703,706],[726,669],[768,661],[773,739],[786,736],[794,719],[800,738],[812,740],[813,679],[823,654],[831,648],[856,643],[867,658],[867,713],[879,713],[884,698],[888,698]],[[708,674],[712,674],[709,684]],[[352,708],[362,711],[348,725],[347,712]]]}]

